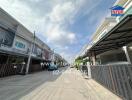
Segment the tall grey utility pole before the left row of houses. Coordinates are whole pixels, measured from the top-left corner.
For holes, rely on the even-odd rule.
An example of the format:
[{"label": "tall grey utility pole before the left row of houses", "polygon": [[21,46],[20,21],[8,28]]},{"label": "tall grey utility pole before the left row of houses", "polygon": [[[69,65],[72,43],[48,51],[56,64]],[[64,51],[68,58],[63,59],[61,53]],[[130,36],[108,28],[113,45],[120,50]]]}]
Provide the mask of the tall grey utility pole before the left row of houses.
[{"label": "tall grey utility pole before the left row of houses", "polygon": [[34,49],[34,46],[35,46],[35,31],[34,31],[33,35],[34,35],[33,36],[33,41],[31,42],[31,48],[30,48],[28,62],[27,62],[27,67],[26,67],[26,74],[28,74],[28,71],[29,71],[31,57],[32,57],[32,52],[33,52],[33,49]]}]

